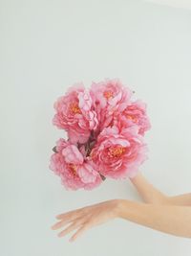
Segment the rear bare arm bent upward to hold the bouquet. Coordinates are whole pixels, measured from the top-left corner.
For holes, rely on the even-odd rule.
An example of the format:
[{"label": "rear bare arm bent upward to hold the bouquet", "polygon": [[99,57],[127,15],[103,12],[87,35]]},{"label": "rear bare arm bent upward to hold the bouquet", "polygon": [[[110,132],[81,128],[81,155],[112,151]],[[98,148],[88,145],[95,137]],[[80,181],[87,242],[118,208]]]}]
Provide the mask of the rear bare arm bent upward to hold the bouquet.
[{"label": "rear bare arm bent upward to hold the bouquet", "polygon": [[167,203],[174,205],[191,205],[191,193],[182,194],[174,197],[169,197],[160,192],[154,185],[152,185],[143,175],[138,173],[133,178],[130,178],[138,190],[138,194],[146,203]]}]

